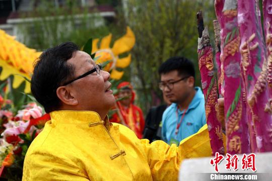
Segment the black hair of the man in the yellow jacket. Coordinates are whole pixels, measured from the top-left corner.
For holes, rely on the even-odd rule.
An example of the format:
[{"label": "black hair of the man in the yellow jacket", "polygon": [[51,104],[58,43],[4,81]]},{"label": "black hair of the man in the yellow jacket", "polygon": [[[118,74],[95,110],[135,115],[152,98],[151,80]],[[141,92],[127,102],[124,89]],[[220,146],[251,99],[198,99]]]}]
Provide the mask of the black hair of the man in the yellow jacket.
[{"label": "black hair of the man in the yellow jacket", "polygon": [[56,89],[61,83],[73,77],[75,68],[67,60],[74,56],[79,47],[73,42],[65,42],[45,50],[34,64],[31,78],[31,92],[49,113],[58,110],[60,100]]}]

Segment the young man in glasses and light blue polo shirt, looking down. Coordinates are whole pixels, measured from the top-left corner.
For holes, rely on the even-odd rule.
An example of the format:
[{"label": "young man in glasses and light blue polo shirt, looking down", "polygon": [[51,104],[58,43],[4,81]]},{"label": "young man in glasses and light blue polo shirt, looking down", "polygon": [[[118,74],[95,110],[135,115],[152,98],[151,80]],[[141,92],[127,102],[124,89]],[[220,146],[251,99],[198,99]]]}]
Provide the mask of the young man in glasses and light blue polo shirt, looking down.
[{"label": "young man in glasses and light blue polo shirt, looking down", "polygon": [[206,124],[205,99],[194,86],[193,63],[184,57],[172,57],[159,68],[160,89],[172,102],[162,117],[162,137],[168,144],[179,142]]}]

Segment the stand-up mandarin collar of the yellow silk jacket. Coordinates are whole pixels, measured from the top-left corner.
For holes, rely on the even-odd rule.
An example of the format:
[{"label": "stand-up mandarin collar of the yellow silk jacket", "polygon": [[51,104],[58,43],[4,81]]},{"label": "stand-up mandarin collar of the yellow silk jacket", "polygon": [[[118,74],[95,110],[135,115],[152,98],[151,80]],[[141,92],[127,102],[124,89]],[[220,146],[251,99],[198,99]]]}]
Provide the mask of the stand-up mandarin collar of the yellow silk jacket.
[{"label": "stand-up mandarin collar of the yellow silk jacket", "polygon": [[[53,111],[50,113],[52,124],[74,124],[74,125],[88,125],[90,123],[101,122],[101,118],[98,113],[94,111],[73,111],[73,110],[61,110]],[[108,115],[104,119],[104,126],[109,130],[109,118]]]}]

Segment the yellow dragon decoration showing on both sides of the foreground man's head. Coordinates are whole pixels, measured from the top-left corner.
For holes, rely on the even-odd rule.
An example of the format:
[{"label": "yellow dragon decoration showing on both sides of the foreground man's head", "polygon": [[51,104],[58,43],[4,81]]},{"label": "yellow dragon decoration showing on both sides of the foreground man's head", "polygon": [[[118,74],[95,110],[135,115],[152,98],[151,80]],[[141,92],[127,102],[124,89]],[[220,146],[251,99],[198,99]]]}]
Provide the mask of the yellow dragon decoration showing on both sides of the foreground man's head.
[{"label": "yellow dragon decoration showing on both sides of the foreground man's head", "polygon": [[[129,27],[126,28],[126,34],[113,43],[110,48],[112,34],[101,39],[98,47],[99,39],[93,40],[92,53],[96,52],[96,56],[100,56],[97,62],[105,62],[112,60],[105,67],[106,71],[110,71],[112,79],[120,79],[123,71],[116,68],[125,68],[130,64],[131,54],[126,57],[119,58],[120,54],[128,52],[135,44],[135,36]],[[14,76],[12,87],[18,88],[23,82],[26,82],[25,93],[30,93],[30,83],[24,77],[31,79],[33,71],[33,62],[40,56],[42,52],[26,47],[24,44],[15,40],[14,36],[8,35],[0,29],[0,80],[6,80],[11,75]]]}]

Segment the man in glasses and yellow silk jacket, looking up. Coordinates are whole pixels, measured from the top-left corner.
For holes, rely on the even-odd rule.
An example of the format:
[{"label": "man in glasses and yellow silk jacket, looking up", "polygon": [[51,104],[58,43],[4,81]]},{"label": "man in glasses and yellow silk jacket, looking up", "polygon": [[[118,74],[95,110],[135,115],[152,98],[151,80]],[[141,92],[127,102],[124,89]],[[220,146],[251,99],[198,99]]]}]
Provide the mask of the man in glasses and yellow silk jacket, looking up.
[{"label": "man in glasses and yellow silk jacket, looking up", "polygon": [[184,158],[211,156],[207,125],[177,147],[109,123],[109,76],[72,42],[41,54],[31,91],[51,120],[27,151],[23,180],[177,180]]}]

